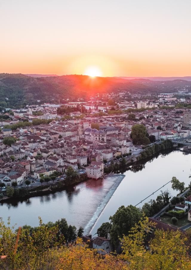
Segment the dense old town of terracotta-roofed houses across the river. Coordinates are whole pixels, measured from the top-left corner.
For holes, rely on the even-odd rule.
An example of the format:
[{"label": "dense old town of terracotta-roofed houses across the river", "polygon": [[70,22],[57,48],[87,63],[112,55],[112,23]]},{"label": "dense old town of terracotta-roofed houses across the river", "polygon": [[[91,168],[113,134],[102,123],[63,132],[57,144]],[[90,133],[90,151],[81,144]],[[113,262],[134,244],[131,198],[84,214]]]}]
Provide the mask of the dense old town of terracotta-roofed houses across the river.
[{"label": "dense old town of terracotta-roofed houses across the river", "polygon": [[[1,119],[0,132],[0,180],[11,186],[13,181],[22,184],[28,175],[36,179],[40,174],[51,175],[55,171],[64,173],[69,166],[74,170],[85,168],[88,178],[101,178],[104,163],[116,160],[118,156],[129,153],[137,154],[142,146],[133,145],[130,138],[132,126],[143,124],[149,135],[156,140],[182,138],[190,136],[191,113],[177,109],[156,110],[148,108],[135,112],[133,120],[129,113],[104,114],[95,116],[95,101],[83,103],[89,107],[89,114],[80,119],[79,111],[70,112],[70,117],[63,118],[57,113],[57,107],[51,104],[33,106],[8,112],[11,120]],[[124,105],[122,102],[121,104]],[[120,105],[120,104],[119,104]],[[132,105],[132,104],[131,104]],[[79,106],[68,103],[68,107]],[[80,103],[80,106],[82,104]],[[99,111],[104,111],[99,106]],[[104,105],[102,105],[104,107]],[[27,119],[53,119],[49,124],[21,127],[16,130],[6,128],[7,124],[16,124]],[[97,128],[93,128],[93,124]],[[5,126],[5,128],[4,128]],[[11,145],[3,143],[5,137],[14,137],[17,141]]]}]

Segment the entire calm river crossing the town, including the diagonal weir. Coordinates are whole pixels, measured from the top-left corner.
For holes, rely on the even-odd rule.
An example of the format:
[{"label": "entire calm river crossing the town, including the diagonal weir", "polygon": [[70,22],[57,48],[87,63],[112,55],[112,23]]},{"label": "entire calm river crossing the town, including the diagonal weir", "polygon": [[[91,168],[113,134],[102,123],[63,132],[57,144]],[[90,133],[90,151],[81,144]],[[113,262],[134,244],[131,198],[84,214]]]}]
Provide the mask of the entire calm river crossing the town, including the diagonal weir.
[{"label": "entire calm river crossing the town, including the diagonal weir", "polygon": [[[83,226],[85,233],[96,233],[97,228],[109,220],[110,215],[121,205],[136,205],[155,190],[176,176],[190,183],[191,155],[179,150],[160,154],[150,160],[138,162],[127,168],[123,175],[114,175],[103,180],[88,180],[66,190],[50,195],[33,197],[24,201],[0,204],[0,217],[11,225],[38,225],[38,216],[44,223],[55,222],[65,217],[68,224],[77,228]],[[177,192],[171,183],[162,190],[169,189],[172,196]],[[155,199],[160,190],[144,200]],[[141,207],[139,204],[137,207]]]}]

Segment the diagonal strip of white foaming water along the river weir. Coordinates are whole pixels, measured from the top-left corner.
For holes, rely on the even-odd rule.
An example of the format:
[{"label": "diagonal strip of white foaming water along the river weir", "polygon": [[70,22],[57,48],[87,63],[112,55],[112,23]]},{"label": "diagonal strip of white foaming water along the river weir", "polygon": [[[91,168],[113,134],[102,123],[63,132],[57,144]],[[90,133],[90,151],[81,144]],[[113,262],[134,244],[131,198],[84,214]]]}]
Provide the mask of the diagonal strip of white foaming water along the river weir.
[{"label": "diagonal strip of white foaming water along the river weir", "polygon": [[96,223],[96,220],[101,215],[102,211],[104,210],[105,206],[113,196],[115,190],[117,189],[118,185],[121,183],[125,175],[112,175],[109,176],[112,177],[115,180],[113,186],[110,188],[110,190],[107,192],[106,196],[102,199],[101,203],[98,205],[93,217],[89,220],[87,225],[84,228],[84,234],[89,234],[91,229],[93,228],[94,224]]}]

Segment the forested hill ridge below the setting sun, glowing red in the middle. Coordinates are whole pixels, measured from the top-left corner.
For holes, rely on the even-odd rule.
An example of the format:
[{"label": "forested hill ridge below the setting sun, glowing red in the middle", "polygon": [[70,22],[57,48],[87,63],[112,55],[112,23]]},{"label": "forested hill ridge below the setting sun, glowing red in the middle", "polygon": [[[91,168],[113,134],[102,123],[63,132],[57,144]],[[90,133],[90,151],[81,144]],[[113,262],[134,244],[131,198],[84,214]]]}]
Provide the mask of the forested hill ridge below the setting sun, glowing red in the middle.
[{"label": "forested hill ridge below the setting sun, glowing red in the middle", "polygon": [[91,78],[85,75],[64,75],[49,77],[31,77],[23,74],[0,74],[1,102],[7,106],[37,104],[40,102],[62,102],[70,98],[87,100],[96,93],[110,93],[129,91],[134,92],[169,92],[176,91],[177,87],[191,85],[189,81],[154,82],[150,80],[125,80],[121,78]]}]

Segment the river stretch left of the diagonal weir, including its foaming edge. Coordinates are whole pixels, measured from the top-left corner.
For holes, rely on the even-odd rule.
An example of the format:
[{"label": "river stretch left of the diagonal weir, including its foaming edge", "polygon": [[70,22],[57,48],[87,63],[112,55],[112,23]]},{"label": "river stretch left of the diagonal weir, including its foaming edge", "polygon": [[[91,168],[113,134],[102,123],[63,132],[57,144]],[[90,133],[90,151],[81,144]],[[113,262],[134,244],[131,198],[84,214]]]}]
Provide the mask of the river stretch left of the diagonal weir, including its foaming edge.
[{"label": "river stretch left of the diagonal weir, including its foaming edge", "polygon": [[17,223],[33,227],[38,226],[38,216],[44,223],[64,217],[69,224],[77,229],[82,226],[88,232],[123,178],[124,175],[109,175],[106,179],[89,179],[52,194],[9,200],[0,203],[0,217],[6,222],[10,216],[11,226]]}]

